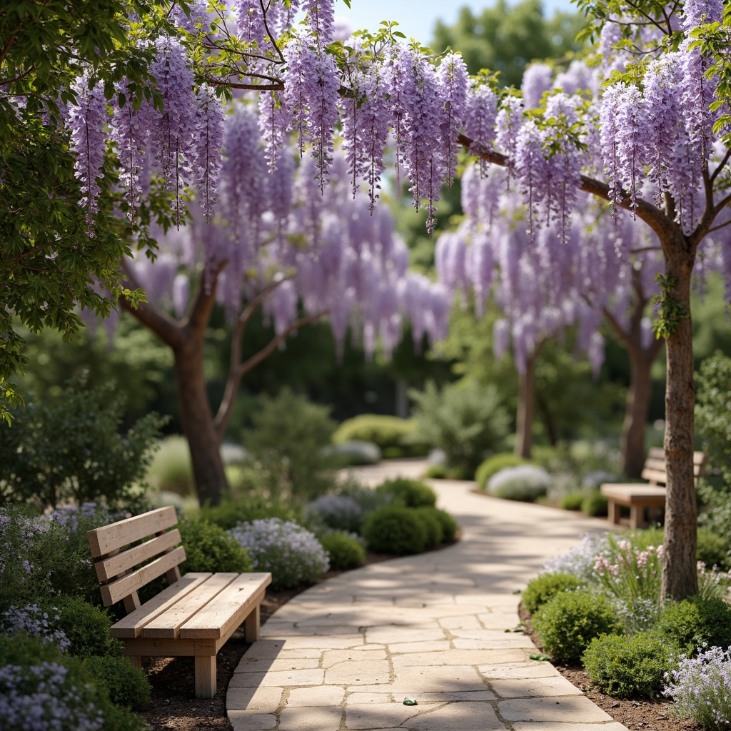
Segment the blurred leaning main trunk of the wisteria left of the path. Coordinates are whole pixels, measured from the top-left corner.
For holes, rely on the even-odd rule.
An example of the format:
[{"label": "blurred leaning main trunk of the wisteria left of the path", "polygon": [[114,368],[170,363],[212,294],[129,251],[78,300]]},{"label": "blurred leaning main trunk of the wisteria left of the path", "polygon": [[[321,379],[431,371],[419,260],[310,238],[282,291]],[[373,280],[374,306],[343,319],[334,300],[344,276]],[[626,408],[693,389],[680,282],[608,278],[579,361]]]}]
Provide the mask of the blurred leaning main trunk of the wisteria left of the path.
[{"label": "blurred leaning main trunk of the wisteria left of the path", "polygon": [[205,390],[202,336],[187,338],[174,352],[181,424],[190,447],[198,501],[201,505],[217,505],[227,491],[228,481],[221,459],[221,439]]}]

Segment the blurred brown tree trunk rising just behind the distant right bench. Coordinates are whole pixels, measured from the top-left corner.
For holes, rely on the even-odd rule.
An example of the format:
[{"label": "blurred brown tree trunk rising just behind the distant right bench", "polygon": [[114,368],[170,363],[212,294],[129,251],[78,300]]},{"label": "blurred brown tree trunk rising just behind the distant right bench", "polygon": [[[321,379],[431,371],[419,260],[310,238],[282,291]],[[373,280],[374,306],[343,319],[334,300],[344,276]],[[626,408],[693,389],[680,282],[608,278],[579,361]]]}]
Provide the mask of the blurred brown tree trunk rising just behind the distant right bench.
[{"label": "blurred brown tree trunk rising just behind the distant right bench", "polygon": [[645,463],[645,425],[650,404],[650,371],[654,355],[629,348],[630,384],[622,426],[622,473],[640,477]]}]

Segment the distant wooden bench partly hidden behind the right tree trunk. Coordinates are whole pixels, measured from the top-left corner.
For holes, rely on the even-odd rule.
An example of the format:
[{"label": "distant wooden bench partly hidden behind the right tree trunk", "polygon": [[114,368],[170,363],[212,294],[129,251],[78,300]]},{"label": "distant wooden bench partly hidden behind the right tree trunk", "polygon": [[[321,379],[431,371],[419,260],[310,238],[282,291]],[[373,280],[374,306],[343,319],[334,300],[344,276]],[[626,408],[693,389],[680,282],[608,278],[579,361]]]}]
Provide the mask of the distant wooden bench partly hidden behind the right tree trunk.
[{"label": "distant wooden bench partly hidden behind the right tree trunk", "polygon": [[[695,483],[705,470],[705,454],[693,452],[693,474]],[[662,517],[665,508],[665,484],[667,483],[667,467],[665,466],[664,450],[652,447],[648,452],[645,466],[642,471],[645,484],[614,484],[607,482],[599,488],[602,495],[609,502],[609,521],[614,525],[621,525],[622,507],[629,507],[629,527],[632,529],[646,528],[649,524],[645,510],[657,509]]]}]

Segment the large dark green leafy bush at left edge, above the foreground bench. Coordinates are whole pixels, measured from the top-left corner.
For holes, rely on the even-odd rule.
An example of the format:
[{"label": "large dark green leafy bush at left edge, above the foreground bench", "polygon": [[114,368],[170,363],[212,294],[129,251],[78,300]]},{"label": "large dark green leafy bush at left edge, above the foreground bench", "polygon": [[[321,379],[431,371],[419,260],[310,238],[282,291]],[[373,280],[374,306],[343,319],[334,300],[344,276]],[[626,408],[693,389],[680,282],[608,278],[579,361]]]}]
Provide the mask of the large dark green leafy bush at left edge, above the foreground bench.
[{"label": "large dark green leafy bush at left edge, above the foreground bench", "polygon": [[0,496],[40,510],[69,501],[126,507],[164,419],[148,414],[121,434],[123,412],[113,384],[87,390],[86,376],[15,412],[12,428],[0,427]]}]

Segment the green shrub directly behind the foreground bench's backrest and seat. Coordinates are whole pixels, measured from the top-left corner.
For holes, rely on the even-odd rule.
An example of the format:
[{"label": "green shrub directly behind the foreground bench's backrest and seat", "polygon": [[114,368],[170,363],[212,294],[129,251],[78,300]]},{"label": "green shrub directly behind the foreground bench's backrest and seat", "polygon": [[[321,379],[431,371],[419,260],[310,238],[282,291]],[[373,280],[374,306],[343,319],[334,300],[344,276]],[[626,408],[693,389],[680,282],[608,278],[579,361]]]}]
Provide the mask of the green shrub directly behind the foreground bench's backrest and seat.
[{"label": "green shrub directly behind the foreground bench's backrest and seat", "polygon": [[254,564],[245,548],[224,529],[205,518],[181,520],[181,538],[185,546],[187,572],[235,572],[253,571]]}]

